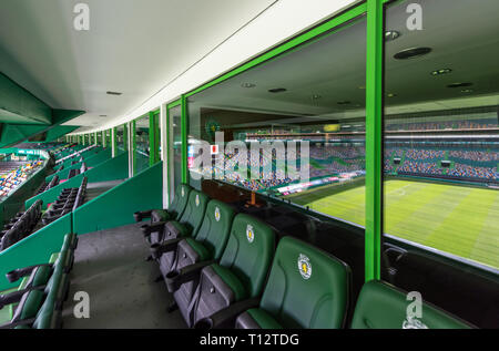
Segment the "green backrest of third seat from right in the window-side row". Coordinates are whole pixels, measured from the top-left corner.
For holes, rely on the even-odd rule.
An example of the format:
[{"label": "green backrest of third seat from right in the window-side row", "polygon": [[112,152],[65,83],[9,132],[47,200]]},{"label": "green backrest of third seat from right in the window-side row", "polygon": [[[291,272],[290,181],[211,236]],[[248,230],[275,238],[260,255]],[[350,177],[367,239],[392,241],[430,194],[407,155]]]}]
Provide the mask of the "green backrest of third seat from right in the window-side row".
[{"label": "green backrest of third seat from right in the window-side row", "polygon": [[249,215],[238,214],[220,265],[231,269],[253,298],[263,290],[274,250],[274,230]]}]

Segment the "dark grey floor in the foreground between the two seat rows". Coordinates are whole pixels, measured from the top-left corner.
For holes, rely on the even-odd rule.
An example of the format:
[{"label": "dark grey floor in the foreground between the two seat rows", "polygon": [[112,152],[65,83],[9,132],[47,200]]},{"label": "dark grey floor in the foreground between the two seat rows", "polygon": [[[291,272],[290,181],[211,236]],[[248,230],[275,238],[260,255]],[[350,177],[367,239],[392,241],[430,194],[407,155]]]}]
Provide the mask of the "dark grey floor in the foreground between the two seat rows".
[{"label": "dark grey floor in the foreground between the two seat rows", "polygon": [[[186,328],[181,313],[167,313],[172,301],[155,262],[145,261],[140,224],[80,236],[71,287],[62,311],[63,328]],[[90,296],[90,318],[77,319],[77,291]]]}]

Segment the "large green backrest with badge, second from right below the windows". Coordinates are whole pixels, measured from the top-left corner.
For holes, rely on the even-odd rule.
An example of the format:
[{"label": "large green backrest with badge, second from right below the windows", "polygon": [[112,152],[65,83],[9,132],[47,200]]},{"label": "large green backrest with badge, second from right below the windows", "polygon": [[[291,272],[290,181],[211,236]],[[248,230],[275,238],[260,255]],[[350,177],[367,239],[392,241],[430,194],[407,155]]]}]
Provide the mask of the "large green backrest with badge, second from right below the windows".
[{"label": "large green backrest with badge, second from right below the windows", "polygon": [[284,328],[337,329],[345,324],[350,269],[302,240],[279,240],[261,307]]}]

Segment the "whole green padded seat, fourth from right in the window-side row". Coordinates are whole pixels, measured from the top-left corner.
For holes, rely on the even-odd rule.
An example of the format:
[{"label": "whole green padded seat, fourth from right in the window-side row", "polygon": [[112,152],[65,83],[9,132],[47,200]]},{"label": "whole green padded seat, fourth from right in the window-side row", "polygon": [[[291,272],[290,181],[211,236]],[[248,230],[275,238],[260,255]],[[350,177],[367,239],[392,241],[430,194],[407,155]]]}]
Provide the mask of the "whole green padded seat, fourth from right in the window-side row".
[{"label": "whole green padded seat, fourth from right in the window-side row", "polygon": [[163,272],[169,291],[173,292],[185,320],[189,319],[189,304],[198,285],[200,270],[220,260],[233,219],[234,210],[228,205],[211,200],[195,239],[185,238],[179,242],[171,271]]}]

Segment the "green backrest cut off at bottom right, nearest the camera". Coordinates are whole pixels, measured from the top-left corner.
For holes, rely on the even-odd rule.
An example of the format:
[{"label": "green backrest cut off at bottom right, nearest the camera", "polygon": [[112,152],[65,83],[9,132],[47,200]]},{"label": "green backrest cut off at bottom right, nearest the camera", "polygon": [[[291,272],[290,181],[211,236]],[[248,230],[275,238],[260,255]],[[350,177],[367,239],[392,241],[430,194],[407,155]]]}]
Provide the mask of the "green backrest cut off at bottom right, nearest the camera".
[{"label": "green backrest cut off at bottom right, nearest the camera", "polygon": [[366,282],[355,306],[353,329],[468,329],[465,321],[420,301],[420,316],[415,298],[406,291],[378,280]]}]

